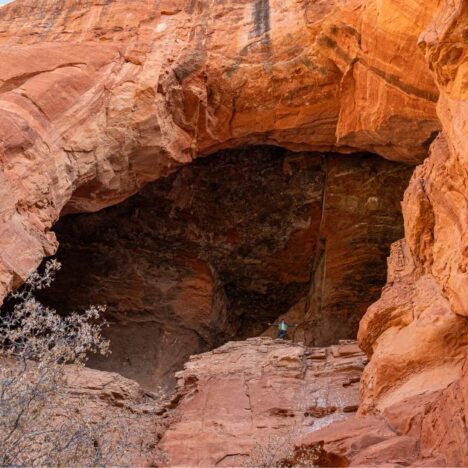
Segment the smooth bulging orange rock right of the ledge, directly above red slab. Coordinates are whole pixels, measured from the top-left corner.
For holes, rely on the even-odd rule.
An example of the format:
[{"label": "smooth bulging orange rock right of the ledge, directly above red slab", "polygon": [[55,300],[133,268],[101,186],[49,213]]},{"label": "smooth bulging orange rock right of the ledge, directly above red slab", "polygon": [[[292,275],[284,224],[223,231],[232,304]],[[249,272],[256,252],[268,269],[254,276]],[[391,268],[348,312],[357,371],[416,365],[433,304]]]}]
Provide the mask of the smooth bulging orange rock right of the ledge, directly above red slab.
[{"label": "smooth bulging orange rock right of the ledge, directly above red slab", "polygon": [[[405,241],[393,246],[393,281],[361,322],[361,347],[371,358],[362,383],[364,413],[421,393],[444,389],[461,378],[468,322],[450,308],[430,274],[414,272]],[[402,271],[412,271],[408,276]]]}]

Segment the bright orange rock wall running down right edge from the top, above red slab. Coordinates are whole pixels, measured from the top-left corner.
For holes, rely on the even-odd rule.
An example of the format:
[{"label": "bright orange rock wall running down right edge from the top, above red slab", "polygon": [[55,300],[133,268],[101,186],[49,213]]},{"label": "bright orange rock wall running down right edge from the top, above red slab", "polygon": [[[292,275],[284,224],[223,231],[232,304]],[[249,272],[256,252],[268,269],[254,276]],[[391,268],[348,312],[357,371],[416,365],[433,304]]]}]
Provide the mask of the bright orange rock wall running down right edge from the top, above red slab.
[{"label": "bright orange rock wall running down right edge from the top, above red slab", "polygon": [[[447,386],[451,391],[465,388],[464,409],[463,400],[437,400],[441,415],[445,405],[448,414],[453,407],[465,413],[464,430],[459,433],[464,447],[468,440],[463,383],[468,349],[467,26],[466,2],[442,2],[420,37],[441,91],[438,113],[444,131],[406,190],[405,239],[394,245],[388,284],[359,331],[360,344],[371,358],[362,382],[361,412],[382,411]],[[446,425],[448,430],[450,423]],[[453,445],[447,450],[458,450],[458,460],[462,459],[462,446]]]}]

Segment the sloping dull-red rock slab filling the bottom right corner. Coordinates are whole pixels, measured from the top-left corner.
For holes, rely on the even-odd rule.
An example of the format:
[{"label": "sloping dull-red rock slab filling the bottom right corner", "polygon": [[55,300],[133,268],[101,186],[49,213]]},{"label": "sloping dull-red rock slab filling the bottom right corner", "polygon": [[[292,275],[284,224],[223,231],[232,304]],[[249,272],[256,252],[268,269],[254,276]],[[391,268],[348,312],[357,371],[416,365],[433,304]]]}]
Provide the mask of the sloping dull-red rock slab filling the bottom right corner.
[{"label": "sloping dull-red rock slab filling the bottom right corner", "polygon": [[[467,466],[468,369],[443,390],[402,398],[379,415],[356,417],[299,437],[318,466]],[[434,376],[437,374],[434,373]]]}]

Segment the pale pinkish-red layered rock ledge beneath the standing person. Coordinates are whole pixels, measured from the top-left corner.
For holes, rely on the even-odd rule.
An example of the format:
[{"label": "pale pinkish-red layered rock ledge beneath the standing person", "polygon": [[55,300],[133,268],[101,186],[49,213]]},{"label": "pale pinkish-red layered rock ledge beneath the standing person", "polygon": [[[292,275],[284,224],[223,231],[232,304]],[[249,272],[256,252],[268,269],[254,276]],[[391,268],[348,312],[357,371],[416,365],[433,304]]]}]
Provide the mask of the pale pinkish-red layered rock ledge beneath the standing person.
[{"label": "pale pinkish-red layered rock ledge beneath the standing person", "polygon": [[266,337],[194,356],[177,374],[159,447],[170,466],[242,466],[257,446],[281,452],[354,415],[365,362],[355,342],[308,348]]}]

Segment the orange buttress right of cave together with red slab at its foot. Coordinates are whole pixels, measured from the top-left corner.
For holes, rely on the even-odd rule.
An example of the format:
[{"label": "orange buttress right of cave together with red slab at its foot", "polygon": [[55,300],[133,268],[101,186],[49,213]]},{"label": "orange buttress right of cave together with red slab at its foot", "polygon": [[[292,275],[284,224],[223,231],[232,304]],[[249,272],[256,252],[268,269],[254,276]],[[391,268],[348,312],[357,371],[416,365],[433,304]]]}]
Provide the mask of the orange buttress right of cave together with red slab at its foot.
[{"label": "orange buttress right of cave together with red slab at its foot", "polygon": [[467,465],[465,185],[458,151],[440,136],[405,192],[405,238],[360,324],[370,359],[360,416],[298,440],[297,457],[313,449],[321,466]]}]

